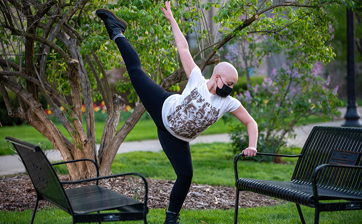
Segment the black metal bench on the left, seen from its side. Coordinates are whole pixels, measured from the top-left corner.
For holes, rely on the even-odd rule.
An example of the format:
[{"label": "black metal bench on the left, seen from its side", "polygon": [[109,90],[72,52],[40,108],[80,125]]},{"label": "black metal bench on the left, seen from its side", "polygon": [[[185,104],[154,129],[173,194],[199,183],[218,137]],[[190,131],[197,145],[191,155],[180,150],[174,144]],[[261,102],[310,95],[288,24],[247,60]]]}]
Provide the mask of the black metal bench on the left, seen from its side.
[{"label": "black metal bench on the left, seen from its side", "polygon": [[[31,223],[34,221],[35,213],[39,200],[47,200],[60,207],[73,217],[73,223],[77,222],[99,222],[101,221],[124,221],[124,220],[142,220],[147,223],[147,181],[139,173],[123,173],[111,176],[99,177],[97,163],[90,159],[80,159],[67,162],[50,164],[39,146],[29,144],[11,137],[6,137],[17,150],[24,166],[33,182],[37,201],[35,204]],[[88,161],[93,162],[97,169],[97,177],[78,180],[63,181],[54,171],[52,165],[59,165],[72,162]],[[113,178],[119,176],[135,175],[142,178],[144,182],[144,202],[122,195],[113,190],[102,187],[98,180]],[[62,184],[80,183],[95,181],[95,185],[64,189]],[[115,212],[112,210],[119,210]],[[103,211],[102,213],[100,211]],[[107,212],[106,212],[107,211]]]}]

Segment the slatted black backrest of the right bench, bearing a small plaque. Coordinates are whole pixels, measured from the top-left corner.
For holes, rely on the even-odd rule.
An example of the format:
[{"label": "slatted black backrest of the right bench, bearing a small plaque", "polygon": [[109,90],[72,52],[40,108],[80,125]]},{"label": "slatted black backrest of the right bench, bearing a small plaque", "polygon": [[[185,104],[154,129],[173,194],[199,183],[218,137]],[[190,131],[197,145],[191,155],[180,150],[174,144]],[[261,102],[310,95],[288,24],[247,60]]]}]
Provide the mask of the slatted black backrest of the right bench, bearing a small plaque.
[{"label": "slatted black backrest of the right bench, bearing a small plaque", "polygon": [[[313,170],[330,163],[334,150],[359,153],[356,166],[362,166],[362,129],[316,126],[310,133],[298,159],[292,181],[311,184]],[[337,182],[337,176],[342,177]],[[362,171],[328,167],[318,175],[320,187],[360,195]]]}]

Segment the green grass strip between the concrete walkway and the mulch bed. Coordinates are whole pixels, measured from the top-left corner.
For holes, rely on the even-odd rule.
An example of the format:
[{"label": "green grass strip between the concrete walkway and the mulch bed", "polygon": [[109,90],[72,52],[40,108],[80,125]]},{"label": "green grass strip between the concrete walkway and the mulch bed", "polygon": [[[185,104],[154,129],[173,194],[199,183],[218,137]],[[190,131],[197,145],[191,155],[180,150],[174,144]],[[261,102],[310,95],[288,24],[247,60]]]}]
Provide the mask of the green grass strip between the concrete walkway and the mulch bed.
[{"label": "green grass strip between the concrete walkway and the mulch bed", "polygon": [[[300,153],[297,152],[297,153]],[[234,186],[234,155],[230,144],[212,143],[191,146],[194,177],[197,184]],[[295,160],[296,161],[296,160]],[[239,176],[273,180],[290,180],[294,164],[257,163],[240,161]],[[270,170],[273,170],[270,173]],[[131,152],[117,154],[112,164],[113,173],[139,172],[149,178],[171,179],[176,175],[163,152]]]}]

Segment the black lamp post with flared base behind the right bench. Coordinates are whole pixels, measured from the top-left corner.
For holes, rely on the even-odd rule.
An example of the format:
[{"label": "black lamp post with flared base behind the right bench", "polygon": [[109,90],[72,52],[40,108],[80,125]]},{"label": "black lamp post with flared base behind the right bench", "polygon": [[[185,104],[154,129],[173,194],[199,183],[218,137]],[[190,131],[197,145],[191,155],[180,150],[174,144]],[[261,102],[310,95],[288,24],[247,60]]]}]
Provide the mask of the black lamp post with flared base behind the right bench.
[{"label": "black lamp post with flared base behind the right bench", "polygon": [[354,13],[347,9],[347,113],[343,127],[362,127],[355,99],[354,76]]}]

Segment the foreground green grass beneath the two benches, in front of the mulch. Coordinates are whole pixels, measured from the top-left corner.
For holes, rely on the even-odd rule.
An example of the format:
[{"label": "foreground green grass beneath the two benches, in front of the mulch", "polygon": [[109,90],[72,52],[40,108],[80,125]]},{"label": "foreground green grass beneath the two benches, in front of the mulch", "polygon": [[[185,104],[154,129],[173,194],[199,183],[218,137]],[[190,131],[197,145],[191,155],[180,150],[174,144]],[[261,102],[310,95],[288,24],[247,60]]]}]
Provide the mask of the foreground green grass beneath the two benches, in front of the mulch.
[{"label": "foreground green grass beneath the two benches, in front of the mulch", "polygon": [[[302,207],[306,223],[314,222],[314,209],[309,207]],[[1,224],[19,224],[30,223],[32,210],[22,212],[5,212],[0,211]],[[233,223],[234,210],[189,210],[183,209],[180,212],[182,220],[180,224],[221,224]],[[242,208],[239,209],[238,223],[243,224],[264,224],[264,223],[301,223],[297,207],[293,203],[255,207],[255,208]],[[164,211],[163,209],[150,209],[147,214],[147,221],[149,224],[163,223]],[[58,208],[49,208],[38,211],[35,216],[34,223],[36,224],[58,224],[58,223],[71,223],[72,219],[69,214]],[[143,221],[126,221],[126,222],[104,222],[110,224],[141,224]],[[360,210],[356,211],[334,211],[322,212],[319,219],[320,224],[345,224],[362,223]]]}]

